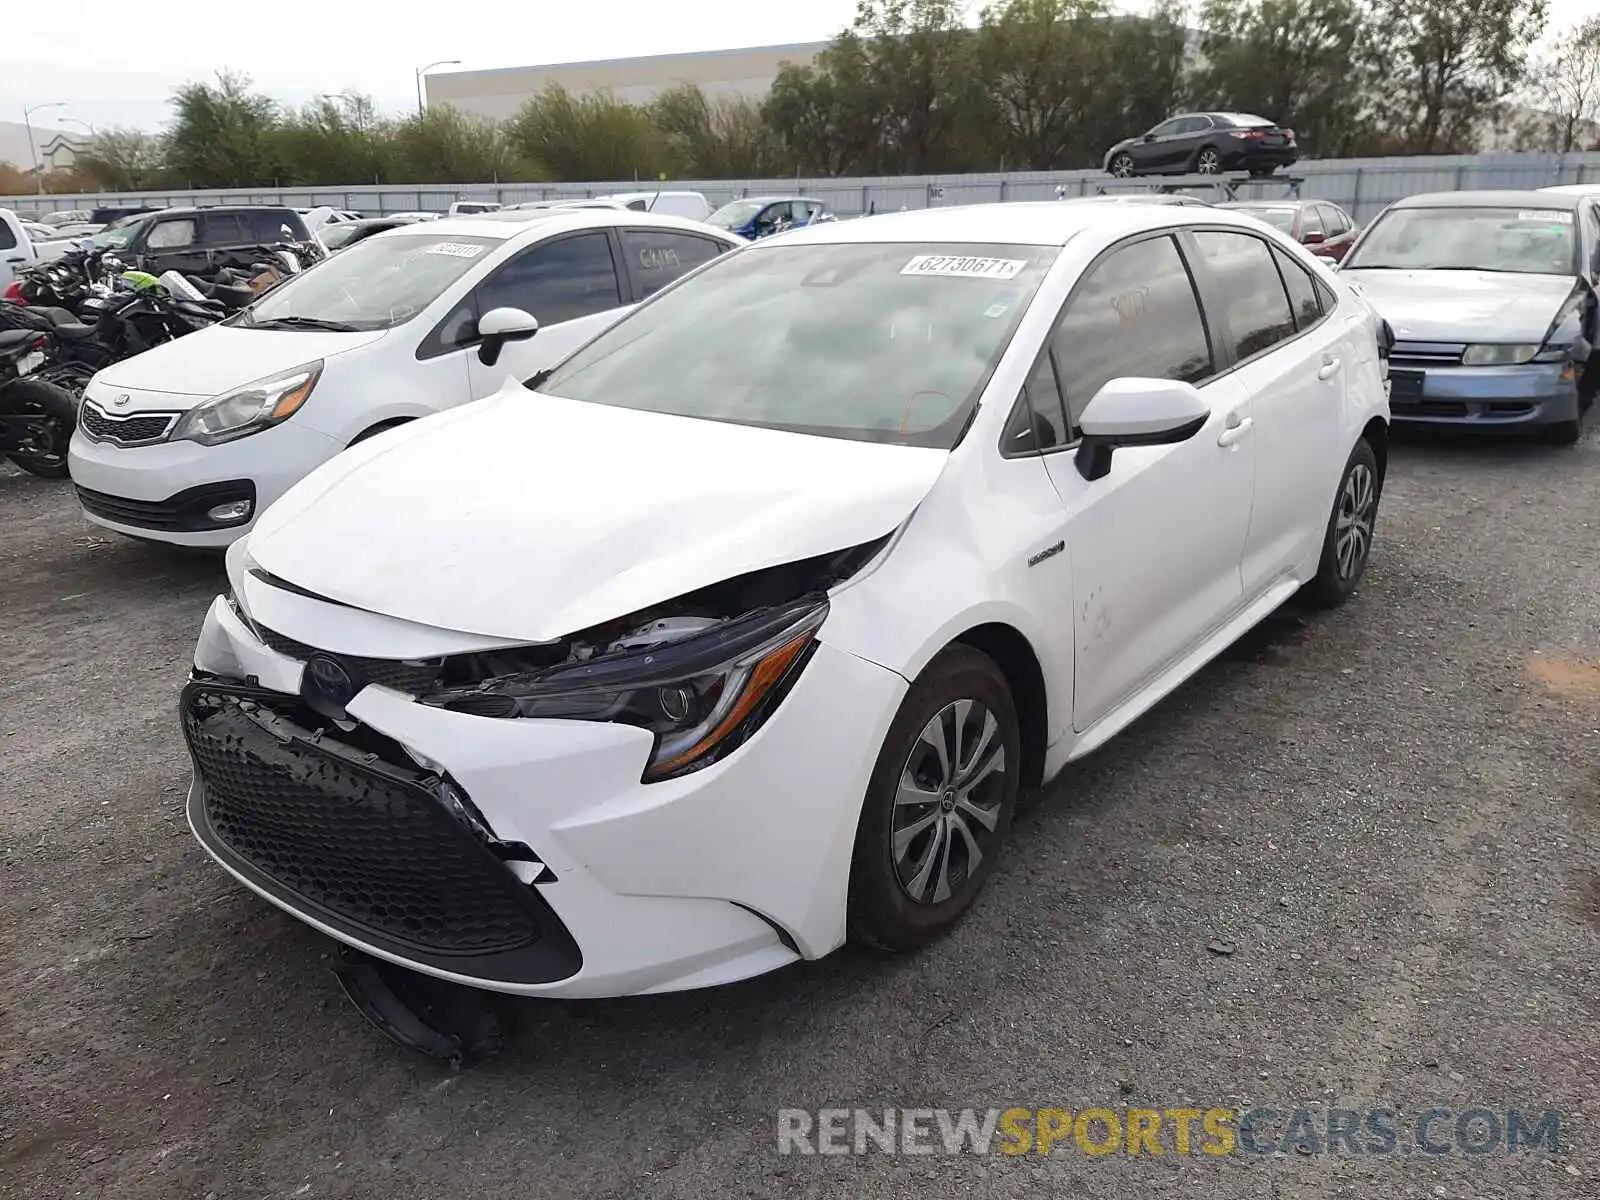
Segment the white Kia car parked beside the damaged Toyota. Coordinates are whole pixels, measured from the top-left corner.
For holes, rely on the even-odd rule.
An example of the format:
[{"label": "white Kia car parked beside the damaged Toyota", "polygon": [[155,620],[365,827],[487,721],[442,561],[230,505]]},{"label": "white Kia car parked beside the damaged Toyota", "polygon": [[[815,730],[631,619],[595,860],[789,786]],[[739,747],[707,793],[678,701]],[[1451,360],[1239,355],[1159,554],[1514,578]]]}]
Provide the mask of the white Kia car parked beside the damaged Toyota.
[{"label": "white Kia car parked beside the damaged Toyota", "polygon": [[614,210],[378,234],[99,371],[69,450],[78,501],[117,533],[224,547],[346,446],[536,374],[741,242]]}]

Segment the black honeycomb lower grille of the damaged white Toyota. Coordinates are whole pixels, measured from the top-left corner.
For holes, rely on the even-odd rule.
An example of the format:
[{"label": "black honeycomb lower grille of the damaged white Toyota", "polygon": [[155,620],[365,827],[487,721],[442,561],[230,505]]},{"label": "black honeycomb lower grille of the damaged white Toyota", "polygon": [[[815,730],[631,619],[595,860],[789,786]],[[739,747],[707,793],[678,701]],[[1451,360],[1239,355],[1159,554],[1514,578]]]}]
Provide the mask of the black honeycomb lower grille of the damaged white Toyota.
[{"label": "black honeycomb lower grille of the damaged white Toyota", "polygon": [[192,683],[182,723],[206,834],[298,907],[432,955],[523,950],[558,928],[437,776],[314,736],[250,690]]}]

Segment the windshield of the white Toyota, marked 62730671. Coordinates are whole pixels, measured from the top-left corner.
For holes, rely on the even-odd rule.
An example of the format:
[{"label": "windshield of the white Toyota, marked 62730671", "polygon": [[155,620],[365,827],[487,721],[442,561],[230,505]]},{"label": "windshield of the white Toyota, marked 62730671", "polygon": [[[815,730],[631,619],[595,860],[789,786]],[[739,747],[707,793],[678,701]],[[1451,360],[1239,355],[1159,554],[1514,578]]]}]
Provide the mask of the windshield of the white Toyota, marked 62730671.
[{"label": "windshield of the white Toyota, marked 62730671", "polygon": [[1058,253],[904,243],[741,251],[602,333],[541,390],[949,450]]}]

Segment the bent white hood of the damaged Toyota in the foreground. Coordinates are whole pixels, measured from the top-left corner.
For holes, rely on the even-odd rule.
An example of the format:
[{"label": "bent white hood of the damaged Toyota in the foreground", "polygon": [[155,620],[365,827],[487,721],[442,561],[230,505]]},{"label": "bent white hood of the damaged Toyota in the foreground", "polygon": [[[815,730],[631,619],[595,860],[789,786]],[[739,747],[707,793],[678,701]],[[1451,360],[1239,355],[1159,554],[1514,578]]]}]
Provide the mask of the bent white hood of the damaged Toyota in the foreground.
[{"label": "bent white hood of the damaged Toyota in the foreground", "polygon": [[328,600],[552,642],[891,533],[947,461],[510,382],[323,464],[262,512],[246,550]]}]

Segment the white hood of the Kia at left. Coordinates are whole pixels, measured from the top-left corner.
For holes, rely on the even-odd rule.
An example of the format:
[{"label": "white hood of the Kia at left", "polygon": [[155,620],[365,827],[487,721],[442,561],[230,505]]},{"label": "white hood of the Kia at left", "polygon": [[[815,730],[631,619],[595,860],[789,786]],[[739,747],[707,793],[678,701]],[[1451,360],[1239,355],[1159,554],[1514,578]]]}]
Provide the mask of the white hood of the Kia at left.
[{"label": "white hood of the Kia at left", "polygon": [[317,358],[355,350],[382,336],[384,330],[323,333],[211,325],[112,363],[96,381],[106,387],[186,395],[198,403]]}]

